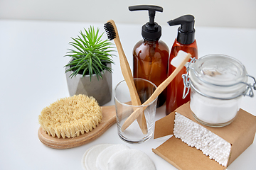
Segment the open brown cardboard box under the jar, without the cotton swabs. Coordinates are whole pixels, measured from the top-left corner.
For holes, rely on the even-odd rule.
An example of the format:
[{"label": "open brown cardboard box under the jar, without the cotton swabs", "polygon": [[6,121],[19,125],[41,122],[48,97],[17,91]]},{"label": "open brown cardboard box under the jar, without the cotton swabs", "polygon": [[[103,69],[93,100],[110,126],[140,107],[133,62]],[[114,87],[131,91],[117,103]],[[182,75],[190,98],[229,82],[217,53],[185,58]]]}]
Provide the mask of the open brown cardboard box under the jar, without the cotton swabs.
[{"label": "open brown cardboard box under the jar, without the cotton swabs", "polygon": [[[194,123],[198,123],[191,114],[189,103],[177,108],[176,112],[192,120]],[[172,112],[161,120],[156,121],[154,138],[173,135],[174,119],[175,112]],[[218,137],[221,137],[231,145],[228,162],[225,166],[220,165],[213,159],[209,159],[201,150],[188,146],[185,142],[174,136],[156,149],[152,149],[153,152],[181,170],[226,169],[228,165],[252,144],[256,132],[256,117],[240,109],[237,118],[230,125],[223,128],[211,128],[206,125],[201,126],[218,135]]]}]

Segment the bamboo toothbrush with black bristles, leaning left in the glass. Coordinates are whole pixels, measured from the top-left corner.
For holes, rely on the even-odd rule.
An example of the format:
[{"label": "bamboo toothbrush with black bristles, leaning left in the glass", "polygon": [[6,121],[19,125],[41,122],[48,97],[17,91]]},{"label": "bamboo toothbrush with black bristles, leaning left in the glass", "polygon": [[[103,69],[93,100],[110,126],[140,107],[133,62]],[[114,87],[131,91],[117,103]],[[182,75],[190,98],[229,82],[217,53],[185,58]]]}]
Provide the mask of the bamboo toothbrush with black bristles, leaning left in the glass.
[{"label": "bamboo toothbrush with black bristles, leaning left in the glass", "polygon": [[[137,92],[137,89],[134,84],[134,79],[132,77],[132,71],[129,67],[129,63],[127,61],[127,57],[124,54],[124,50],[122,48],[119,35],[117,32],[117,27],[113,20],[107,21],[104,26],[106,32],[107,32],[107,38],[110,40],[114,40],[115,45],[117,46],[117,51],[119,54],[119,61],[120,61],[120,67],[122,70],[122,74],[124,77],[124,80],[127,83],[127,86],[129,88],[129,94],[131,96],[132,105],[133,106],[140,106],[142,105],[142,102],[139,99],[139,95]],[[135,108],[134,108],[135,110]],[[147,134],[147,126],[146,126],[146,118],[143,111],[139,111],[139,115],[137,116],[137,122],[139,123],[139,127],[141,128],[144,135]],[[136,118],[135,118],[136,119]],[[134,120],[135,120],[134,119]]]}]

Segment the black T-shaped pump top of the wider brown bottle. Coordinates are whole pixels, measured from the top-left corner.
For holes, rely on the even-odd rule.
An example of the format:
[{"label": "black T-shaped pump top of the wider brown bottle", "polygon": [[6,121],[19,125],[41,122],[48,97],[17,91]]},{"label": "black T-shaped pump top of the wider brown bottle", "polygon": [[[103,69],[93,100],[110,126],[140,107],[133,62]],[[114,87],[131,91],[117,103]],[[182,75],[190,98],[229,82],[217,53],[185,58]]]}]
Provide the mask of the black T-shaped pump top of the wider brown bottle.
[{"label": "black T-shaped pump top of the wider brown bottle", "polygon": [[161,26],[154,22],[154,17],[156,11],[163,12],[161,6],[151,6],[151,5],[138,5],[138,6],[129,6],[129,11],[149,11],[149,22],[142,26],[142,37],[146,40],[159,40],[161,37]]}]

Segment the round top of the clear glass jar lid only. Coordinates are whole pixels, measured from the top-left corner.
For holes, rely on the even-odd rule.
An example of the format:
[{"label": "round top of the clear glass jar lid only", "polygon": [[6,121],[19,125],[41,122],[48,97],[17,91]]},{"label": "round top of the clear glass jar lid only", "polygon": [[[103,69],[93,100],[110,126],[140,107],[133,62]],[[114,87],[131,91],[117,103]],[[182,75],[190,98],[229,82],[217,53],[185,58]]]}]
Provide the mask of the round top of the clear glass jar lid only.
[{"label": "round top of the clear glass jar lid only", "polygon": [[193,64],[195,76],[206,84],[233,86],[247,82],[247,72],[243,64],[226,55],[206,55]]}]

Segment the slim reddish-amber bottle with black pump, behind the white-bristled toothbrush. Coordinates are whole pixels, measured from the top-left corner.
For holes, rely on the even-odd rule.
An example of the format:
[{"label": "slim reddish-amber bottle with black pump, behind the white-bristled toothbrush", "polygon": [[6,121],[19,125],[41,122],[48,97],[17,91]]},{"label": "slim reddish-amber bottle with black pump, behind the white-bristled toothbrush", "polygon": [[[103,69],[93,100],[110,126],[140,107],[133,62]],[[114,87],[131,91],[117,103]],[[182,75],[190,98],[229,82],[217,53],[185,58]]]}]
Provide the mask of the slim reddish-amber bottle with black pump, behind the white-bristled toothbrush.
[{"label": "slim reddish-amber bottle with black pump, behind the white-bristled toothbrush", "polygon": [[[168,72],[168,75],[170,75],[175,69],[170,62],[176,57],[178,51],[183,50],[184,52],[190,53],[192,57],[198,59],[198,47],[195,39],[196,30],[194,29],[195,21],[193,16],[181,16],[168,23],[169,26],[181,25],[181,27],[178,28],[178,35],[174,41],[174,45],[171,48]],[[179,72],[174,80],[171,81],[171,84],[167,86],[166,115],[169,115],[169,113],[190,100],[190,95],[187,95],[184,99],[182,98],[184,89],[182,74],[186,74],[186,67],[183,67],[181,72]]]}]

